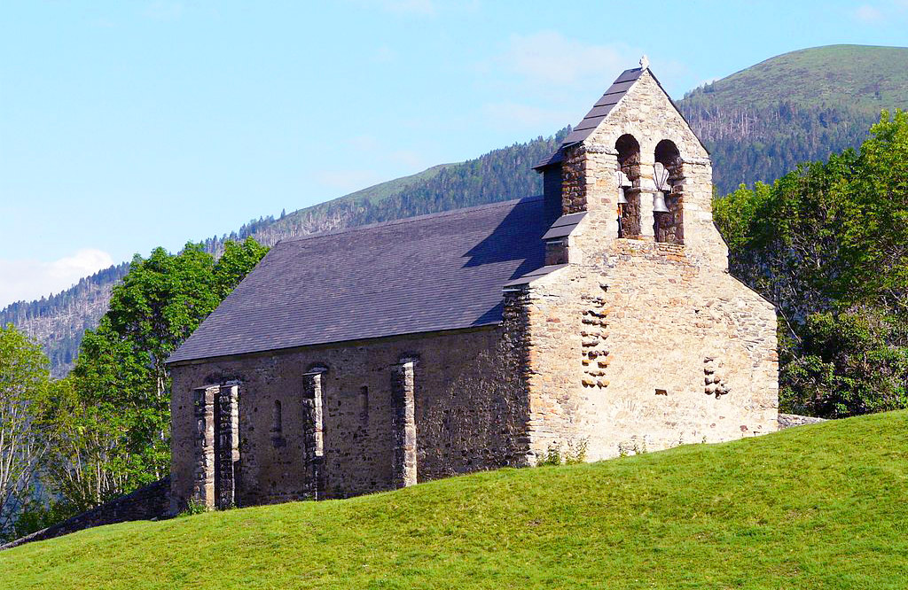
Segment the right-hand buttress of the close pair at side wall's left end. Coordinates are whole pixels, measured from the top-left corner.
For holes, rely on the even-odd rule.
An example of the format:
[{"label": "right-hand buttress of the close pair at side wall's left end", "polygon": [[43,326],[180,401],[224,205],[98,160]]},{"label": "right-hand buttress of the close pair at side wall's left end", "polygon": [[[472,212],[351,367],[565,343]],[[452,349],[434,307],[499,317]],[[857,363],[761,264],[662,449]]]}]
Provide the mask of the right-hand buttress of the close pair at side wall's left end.
[{"label": "right-hand buttress of the close pair at side wall's left end", "polygon": [[215,505],[224,510],[236,506],[237,469],[240,465],[240,388],[227,383],[218,389],[215,438]]}]

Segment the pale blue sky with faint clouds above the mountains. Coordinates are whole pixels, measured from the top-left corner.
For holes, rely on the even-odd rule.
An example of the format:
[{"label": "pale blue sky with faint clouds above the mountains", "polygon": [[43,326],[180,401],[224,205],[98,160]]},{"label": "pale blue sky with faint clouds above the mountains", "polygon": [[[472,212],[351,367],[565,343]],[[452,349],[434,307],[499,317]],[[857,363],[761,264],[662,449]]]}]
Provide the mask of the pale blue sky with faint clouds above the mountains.
[{"label": "pale blue sky with faint clouds above the mountains", "polygon": [[908,0],[0,5],[0,307],[577,123],[648,54],[673,96],[908,45]]}]

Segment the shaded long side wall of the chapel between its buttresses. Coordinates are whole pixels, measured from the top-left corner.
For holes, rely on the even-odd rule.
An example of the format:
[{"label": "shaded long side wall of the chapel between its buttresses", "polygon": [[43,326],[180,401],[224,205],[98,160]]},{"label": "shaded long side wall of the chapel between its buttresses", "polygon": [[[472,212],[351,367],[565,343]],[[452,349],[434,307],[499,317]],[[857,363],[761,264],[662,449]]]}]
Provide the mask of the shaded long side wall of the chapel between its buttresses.
[{"label": "shaded long side wall of the chapel between its buttresses", "polygon": [[[172,510],[186,505],[198,479],[193,391],[225,382],[238,383],[237,505],[312,497],[304,385],[313,368],[326,369],[323,497],[396,487],[392,386],[405,359],[413,359],[419,481],[525,465],[528,408],[510,338],[499,328],[461,330],[174,366]],[[277,401],[280,425],[274,424]]]}]

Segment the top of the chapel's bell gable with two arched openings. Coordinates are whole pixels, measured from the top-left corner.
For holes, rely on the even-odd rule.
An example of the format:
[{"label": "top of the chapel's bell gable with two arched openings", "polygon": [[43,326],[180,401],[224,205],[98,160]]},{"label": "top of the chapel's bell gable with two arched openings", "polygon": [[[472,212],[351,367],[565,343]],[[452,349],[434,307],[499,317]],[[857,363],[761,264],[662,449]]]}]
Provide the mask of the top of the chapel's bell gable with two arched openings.
[{"label": "top of the chapel's bell gable with two arched openings", "polygon": [[[709,153],[646,55],[618,75],[536,170],[553,222],[583,212],[600,242],[675,244],[725,268],[725,245],[712,225]],[[563,241],[568,251],[569,239]]]}]

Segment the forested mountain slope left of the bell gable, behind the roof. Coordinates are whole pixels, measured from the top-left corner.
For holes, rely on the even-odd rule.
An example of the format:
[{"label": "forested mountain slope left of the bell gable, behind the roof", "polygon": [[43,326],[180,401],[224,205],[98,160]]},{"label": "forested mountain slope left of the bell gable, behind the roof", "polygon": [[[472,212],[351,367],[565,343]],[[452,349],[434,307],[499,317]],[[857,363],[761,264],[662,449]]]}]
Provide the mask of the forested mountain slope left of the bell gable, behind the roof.
[{"label": "forested mountain slope left of the bell gable, behind the roof", "polygon": [[[271,246],[293,236],[389,221],[421,213],[445,211],[488,202],[508,201],[542,192],[542,181],[532,165],[548,156],[569,132],[486,153],[475,160],[433,166],[424,172],[306,209],[249,221],[238,231],[203,240],[204,250],[216,255],[225,241],[252,236]],[[54,377],[72,369],[85,329],[94,328],[107,310],[114,284],[129,270],[123,262],[80,280],[71,289],[50,298],[19,301],[0,310],[0,326],[12,322],[44,343]]]}]

